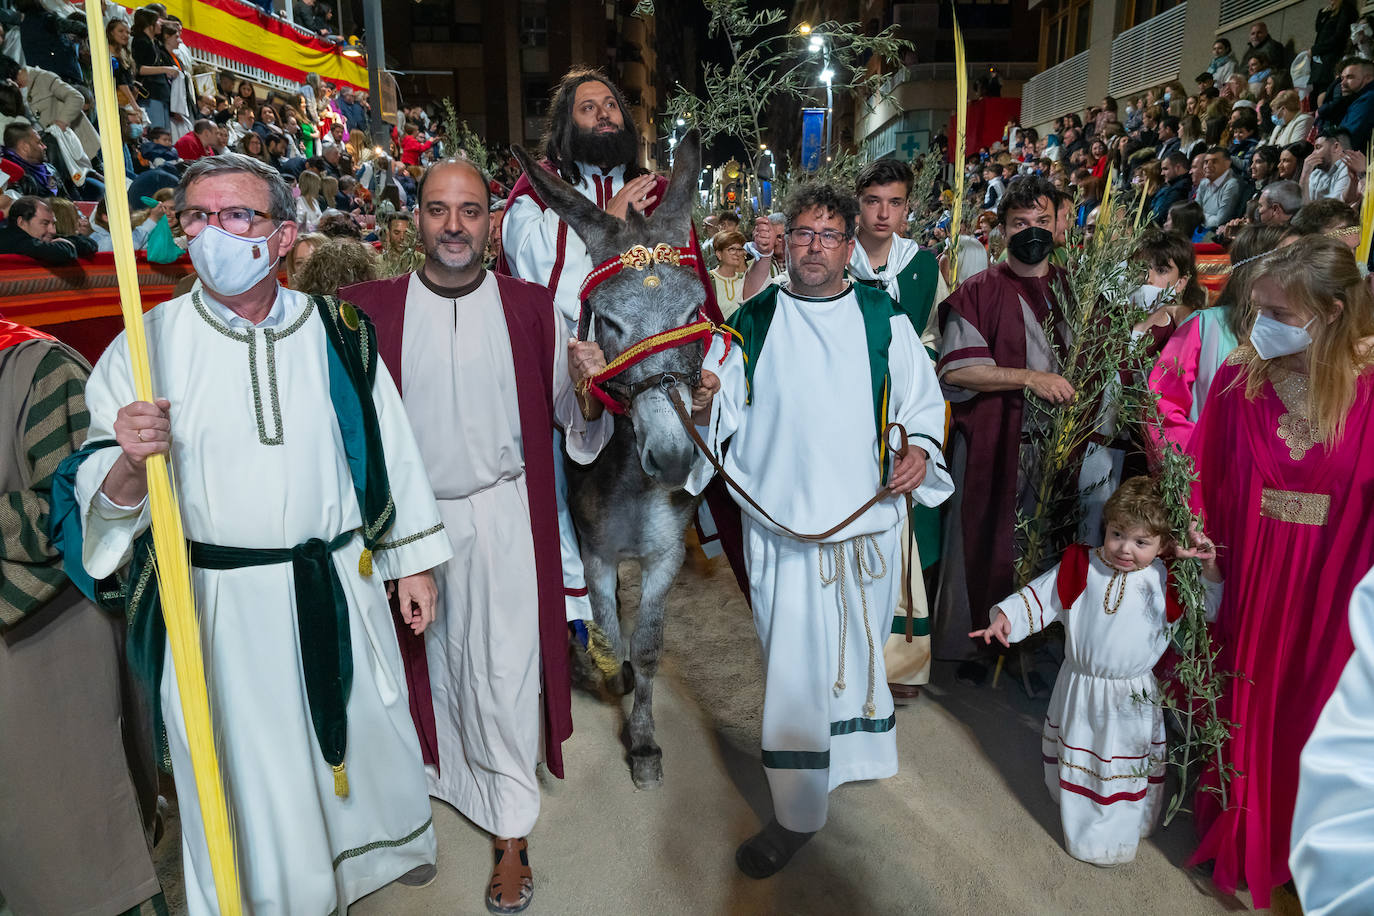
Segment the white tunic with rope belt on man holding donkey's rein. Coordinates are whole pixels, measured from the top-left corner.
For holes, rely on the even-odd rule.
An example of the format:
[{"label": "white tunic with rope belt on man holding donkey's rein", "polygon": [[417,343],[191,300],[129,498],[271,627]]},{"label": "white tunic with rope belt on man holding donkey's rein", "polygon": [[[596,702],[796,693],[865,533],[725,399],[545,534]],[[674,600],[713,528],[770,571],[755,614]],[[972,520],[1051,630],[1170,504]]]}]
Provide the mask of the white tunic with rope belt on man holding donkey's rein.
[{"label": "white tunic with rope belt on man holding donkey's rein", "polygon": [[[888,357],[888,415],[929,456],[914,496],[937,505],[952,490],[940,459],[944,401],[904,314],[892,319]],[[752,404],[739,346],[727,353],[716,339],[703,367],[721,382],[703,438],[717,455],[731,439],[724,467],[779,522],[823,531],[878,490],[868,346],[852,290],[820,301],[779,291]],[[688,489],[699,492],[709,477],[698,459]],[[831,788],[897,772],[882,641],[900,589],[905,501],[883,500],[818,545],[783,534],[735,499],[767,667],[764,769],[778,821],[815,831],[826,823]]]}]

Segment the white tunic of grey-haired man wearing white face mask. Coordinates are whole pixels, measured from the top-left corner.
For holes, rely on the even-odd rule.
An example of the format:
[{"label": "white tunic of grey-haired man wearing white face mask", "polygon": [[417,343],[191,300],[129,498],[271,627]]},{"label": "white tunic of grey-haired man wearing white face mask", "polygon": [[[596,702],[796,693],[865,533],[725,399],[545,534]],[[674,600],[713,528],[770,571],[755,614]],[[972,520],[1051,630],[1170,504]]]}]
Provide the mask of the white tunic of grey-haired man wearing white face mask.
[{"label": "white tunic of grey-haired man wearing white face mask", "polygon": [[[229,319],[232,317],[232,325]],[[146,314],[153,389],[172,402],[172,466],[187,537],[225,547],[287,548],[357,529],[361,516],[328,397],[324,327],[300,293],[279,290],[257,327],[183,295]],[[254,383],[256,379],[256,383]],[[220,765],[239,850],[243,904],[257,913],[344,912],[359,897],[434,861],[419,742],[383,582],[436,567],[452,548],[415,438],[385,367],[374,385],[396,522],[359,570],[361,537],[334,553],[349,603],[348,798],[320,755],[301,674],[290,564],[192,573],[220,735]],[[136,400],[121,334],[91,375],[91,439],[113,438]],[[120,455],[91,456],[77,475],[84,563],[96,580],[128,562],[147,503],[115,507],[99,486]],[[191,913],[217,912],[172,659],[162,710],[181,799]]]}]

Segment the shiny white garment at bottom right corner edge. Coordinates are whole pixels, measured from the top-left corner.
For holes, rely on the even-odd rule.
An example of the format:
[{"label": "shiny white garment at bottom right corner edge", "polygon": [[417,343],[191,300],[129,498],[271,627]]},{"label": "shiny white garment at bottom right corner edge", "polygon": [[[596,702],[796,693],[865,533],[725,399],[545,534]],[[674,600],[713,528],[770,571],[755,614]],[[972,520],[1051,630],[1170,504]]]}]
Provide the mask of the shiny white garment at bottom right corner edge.
[{"label": "shiny white garment at bottom right corner edge", "polygon": [[1374,573],[1351,599],[1355,655],[1303,748],[1293,882],[1308,916],[1374,912]]}]

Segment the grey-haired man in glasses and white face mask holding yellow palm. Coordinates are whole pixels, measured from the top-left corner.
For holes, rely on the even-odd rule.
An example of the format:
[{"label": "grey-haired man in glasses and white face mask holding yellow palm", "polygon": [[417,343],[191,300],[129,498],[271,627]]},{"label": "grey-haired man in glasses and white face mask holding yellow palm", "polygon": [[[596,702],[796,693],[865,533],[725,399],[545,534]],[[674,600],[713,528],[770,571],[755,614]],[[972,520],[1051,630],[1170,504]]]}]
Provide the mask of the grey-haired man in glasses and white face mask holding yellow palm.
[{"label": "grey-haired man in glasses and white face mask holding yellow palm", "polygon": [[[192,916],[220,912],[185,722],[148,574],[144,461],[169,455],[190,544],[243,909],[344,912],[433,875],[436,838],[387,584],[412,629],[452,556],[409,420],[353,306],[276,282],[290,190],[256,159],[198,159],[176,188],[198,282],[144,316],[153,391],[125,335],[87,386],[59,470],[67,573],[128,591],[181,816]],[[92,586],[92,581],[98,586]]]}]

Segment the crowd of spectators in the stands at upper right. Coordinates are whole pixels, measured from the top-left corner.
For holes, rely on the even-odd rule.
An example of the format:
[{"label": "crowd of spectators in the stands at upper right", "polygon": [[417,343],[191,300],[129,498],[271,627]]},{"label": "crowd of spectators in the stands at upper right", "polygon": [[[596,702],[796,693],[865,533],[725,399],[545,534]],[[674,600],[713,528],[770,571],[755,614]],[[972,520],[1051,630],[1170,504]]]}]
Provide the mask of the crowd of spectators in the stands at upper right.
[{"label": "crowd of spectators in the stands at upper right", "polygon": [[1212,52],[1191,92],[1175,80],[1106,96],[1043,133],[1009,125],[1002,143],[965,163],[967,205],[995,213],[1007,181],[1040,174],[1073,195],[1073,220],[1087,228],[1112,183],[1132,201],[1145,195],[1157,225],[1221,246],[1248,224],[1287,224],[1315,202],[1353,214],[1374,135],[1374,15],[1333,0],[1311,48],[1296,51],[1256,22],[1243,48],[1217,38]]}]

